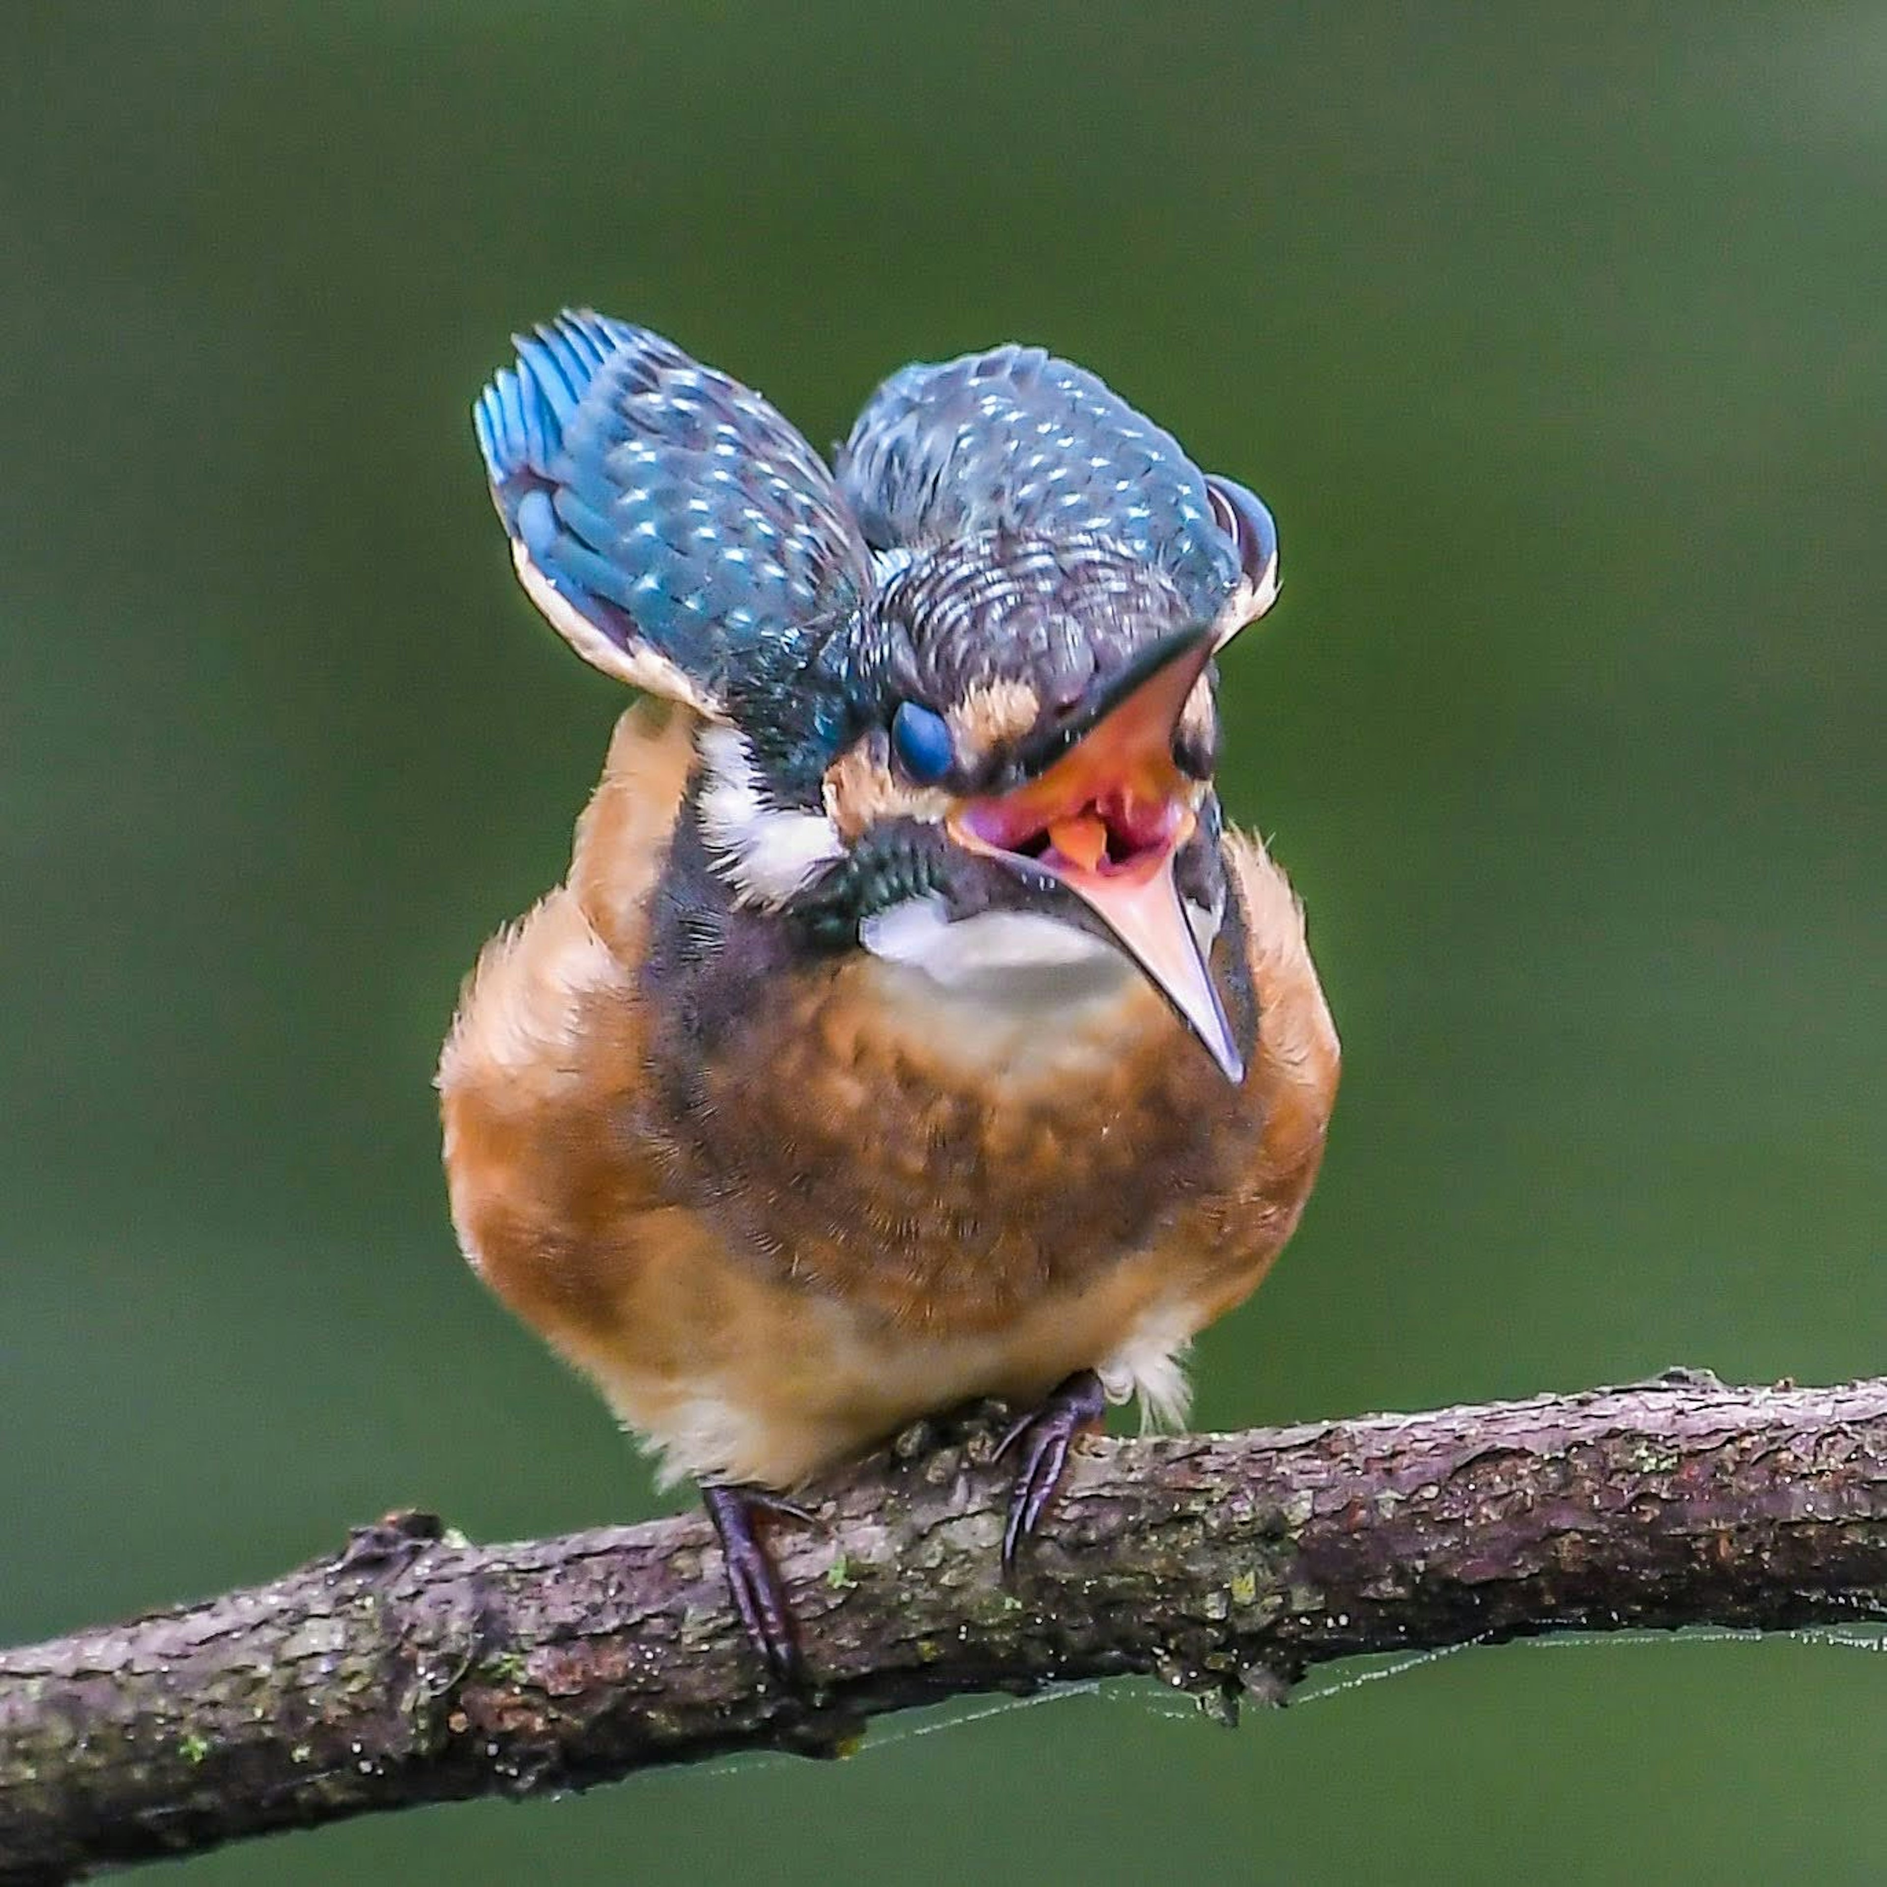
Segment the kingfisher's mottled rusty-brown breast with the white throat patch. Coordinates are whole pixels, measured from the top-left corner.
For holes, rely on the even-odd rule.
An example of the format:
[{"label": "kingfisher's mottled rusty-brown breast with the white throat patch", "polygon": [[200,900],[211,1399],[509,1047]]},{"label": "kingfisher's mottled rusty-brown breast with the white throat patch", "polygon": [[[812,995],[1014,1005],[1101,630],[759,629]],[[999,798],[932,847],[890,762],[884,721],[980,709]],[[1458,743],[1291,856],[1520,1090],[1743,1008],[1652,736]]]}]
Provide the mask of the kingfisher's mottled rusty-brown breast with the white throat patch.
[{"label": "kingfisher's mottled rusty-brown breast with the white throat patch", "polygon": [[[647,1119],[679,1198],[794,1283],[993,1330],[1249,1157],[1240,1091],[1098,940],[904,911],[866,949],[796,955],[691,881],[677,834],[643,974]],[[1242,959],[1221,959],[1249,1028]]]}]

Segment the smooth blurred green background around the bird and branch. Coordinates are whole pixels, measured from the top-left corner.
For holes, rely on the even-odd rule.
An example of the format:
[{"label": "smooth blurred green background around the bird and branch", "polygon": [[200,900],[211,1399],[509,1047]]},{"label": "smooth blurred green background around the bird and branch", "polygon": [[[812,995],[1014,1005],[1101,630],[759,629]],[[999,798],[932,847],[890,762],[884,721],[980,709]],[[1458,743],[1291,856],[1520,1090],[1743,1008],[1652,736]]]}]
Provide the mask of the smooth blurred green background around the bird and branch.
[{"label": "smooth blurred green background around the bird and branch", "polygon": [[[1887,1366],[1878,6],[21,4],[0,72],[0,1638],[398,1502],[657,1511],[428,1077],[617,691],[466,402],[564,300],[819,442],[1044,340],[1276,508],[1227,677],[1347,1045],[1244,1425]],[[1887,1666],[1127,1685],[172,1879],[1878,1879]],[[945,1721],[945,1717],[932,1721]]]}]

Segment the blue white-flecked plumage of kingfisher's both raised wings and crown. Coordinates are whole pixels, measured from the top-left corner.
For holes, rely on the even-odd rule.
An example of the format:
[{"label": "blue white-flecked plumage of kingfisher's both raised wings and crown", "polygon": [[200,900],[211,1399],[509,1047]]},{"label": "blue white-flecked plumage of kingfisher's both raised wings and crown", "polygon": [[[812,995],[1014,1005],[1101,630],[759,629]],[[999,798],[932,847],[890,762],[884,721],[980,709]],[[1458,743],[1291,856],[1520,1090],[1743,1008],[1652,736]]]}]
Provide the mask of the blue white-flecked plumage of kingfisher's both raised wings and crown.
[{"label": "blue white-flecked plumage of kingfisher's both raised wings and crown", "polygon": [[525,587],[587,660],[736,723],[774,804],[817,806],[904,700],[1027,679],[1055,710],[1276,594],[1264,506],[1040,347],[891,376],[834,474],[647,328],[577,309],[515,343],[474,423]]}]

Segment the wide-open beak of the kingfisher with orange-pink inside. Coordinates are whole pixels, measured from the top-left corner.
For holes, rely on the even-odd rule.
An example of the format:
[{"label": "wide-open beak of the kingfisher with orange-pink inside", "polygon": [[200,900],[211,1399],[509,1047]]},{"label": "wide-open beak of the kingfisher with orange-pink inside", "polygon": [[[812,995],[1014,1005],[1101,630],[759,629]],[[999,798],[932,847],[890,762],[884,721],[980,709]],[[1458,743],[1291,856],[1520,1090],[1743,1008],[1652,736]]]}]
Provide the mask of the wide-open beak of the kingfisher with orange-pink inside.
[{"label": "wide-open beak of the kingfisher with orange-pink inside", "polygon": [[1213,655],[1211,628],[1155,643],[1023,753],[1028,777],[964,800],[957,843],[1025,876],[1066,885],[1113,932],[1228,1081],[1245,1076],[1232,1025],[1193,934],[1174,859],[1194,830],[1196,781],[1174,760],[1174,730]]}]

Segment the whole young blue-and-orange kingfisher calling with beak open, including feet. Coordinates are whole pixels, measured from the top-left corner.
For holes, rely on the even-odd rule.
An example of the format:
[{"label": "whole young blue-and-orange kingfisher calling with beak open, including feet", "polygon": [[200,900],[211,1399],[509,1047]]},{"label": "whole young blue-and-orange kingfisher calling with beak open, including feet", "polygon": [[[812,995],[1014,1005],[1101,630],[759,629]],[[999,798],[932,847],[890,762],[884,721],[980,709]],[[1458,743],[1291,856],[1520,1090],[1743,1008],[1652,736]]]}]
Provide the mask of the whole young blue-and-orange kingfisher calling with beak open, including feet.
[{"label": "whole young blue-and-orange kingfisher calling with beak open, including feet", "polygon": [[904,368],[830,470],[589,311],[474,417],[526,594],[643,698],[466,981],[453,1221],[700,1483],[800,1681],[757,1513],[996,1396],[1008,1562],[1108,1402],[1183,1415],[1187,1344],[1296,1227],[1336,1032],[1213,791],[1276,532],[1036,347]]}]

